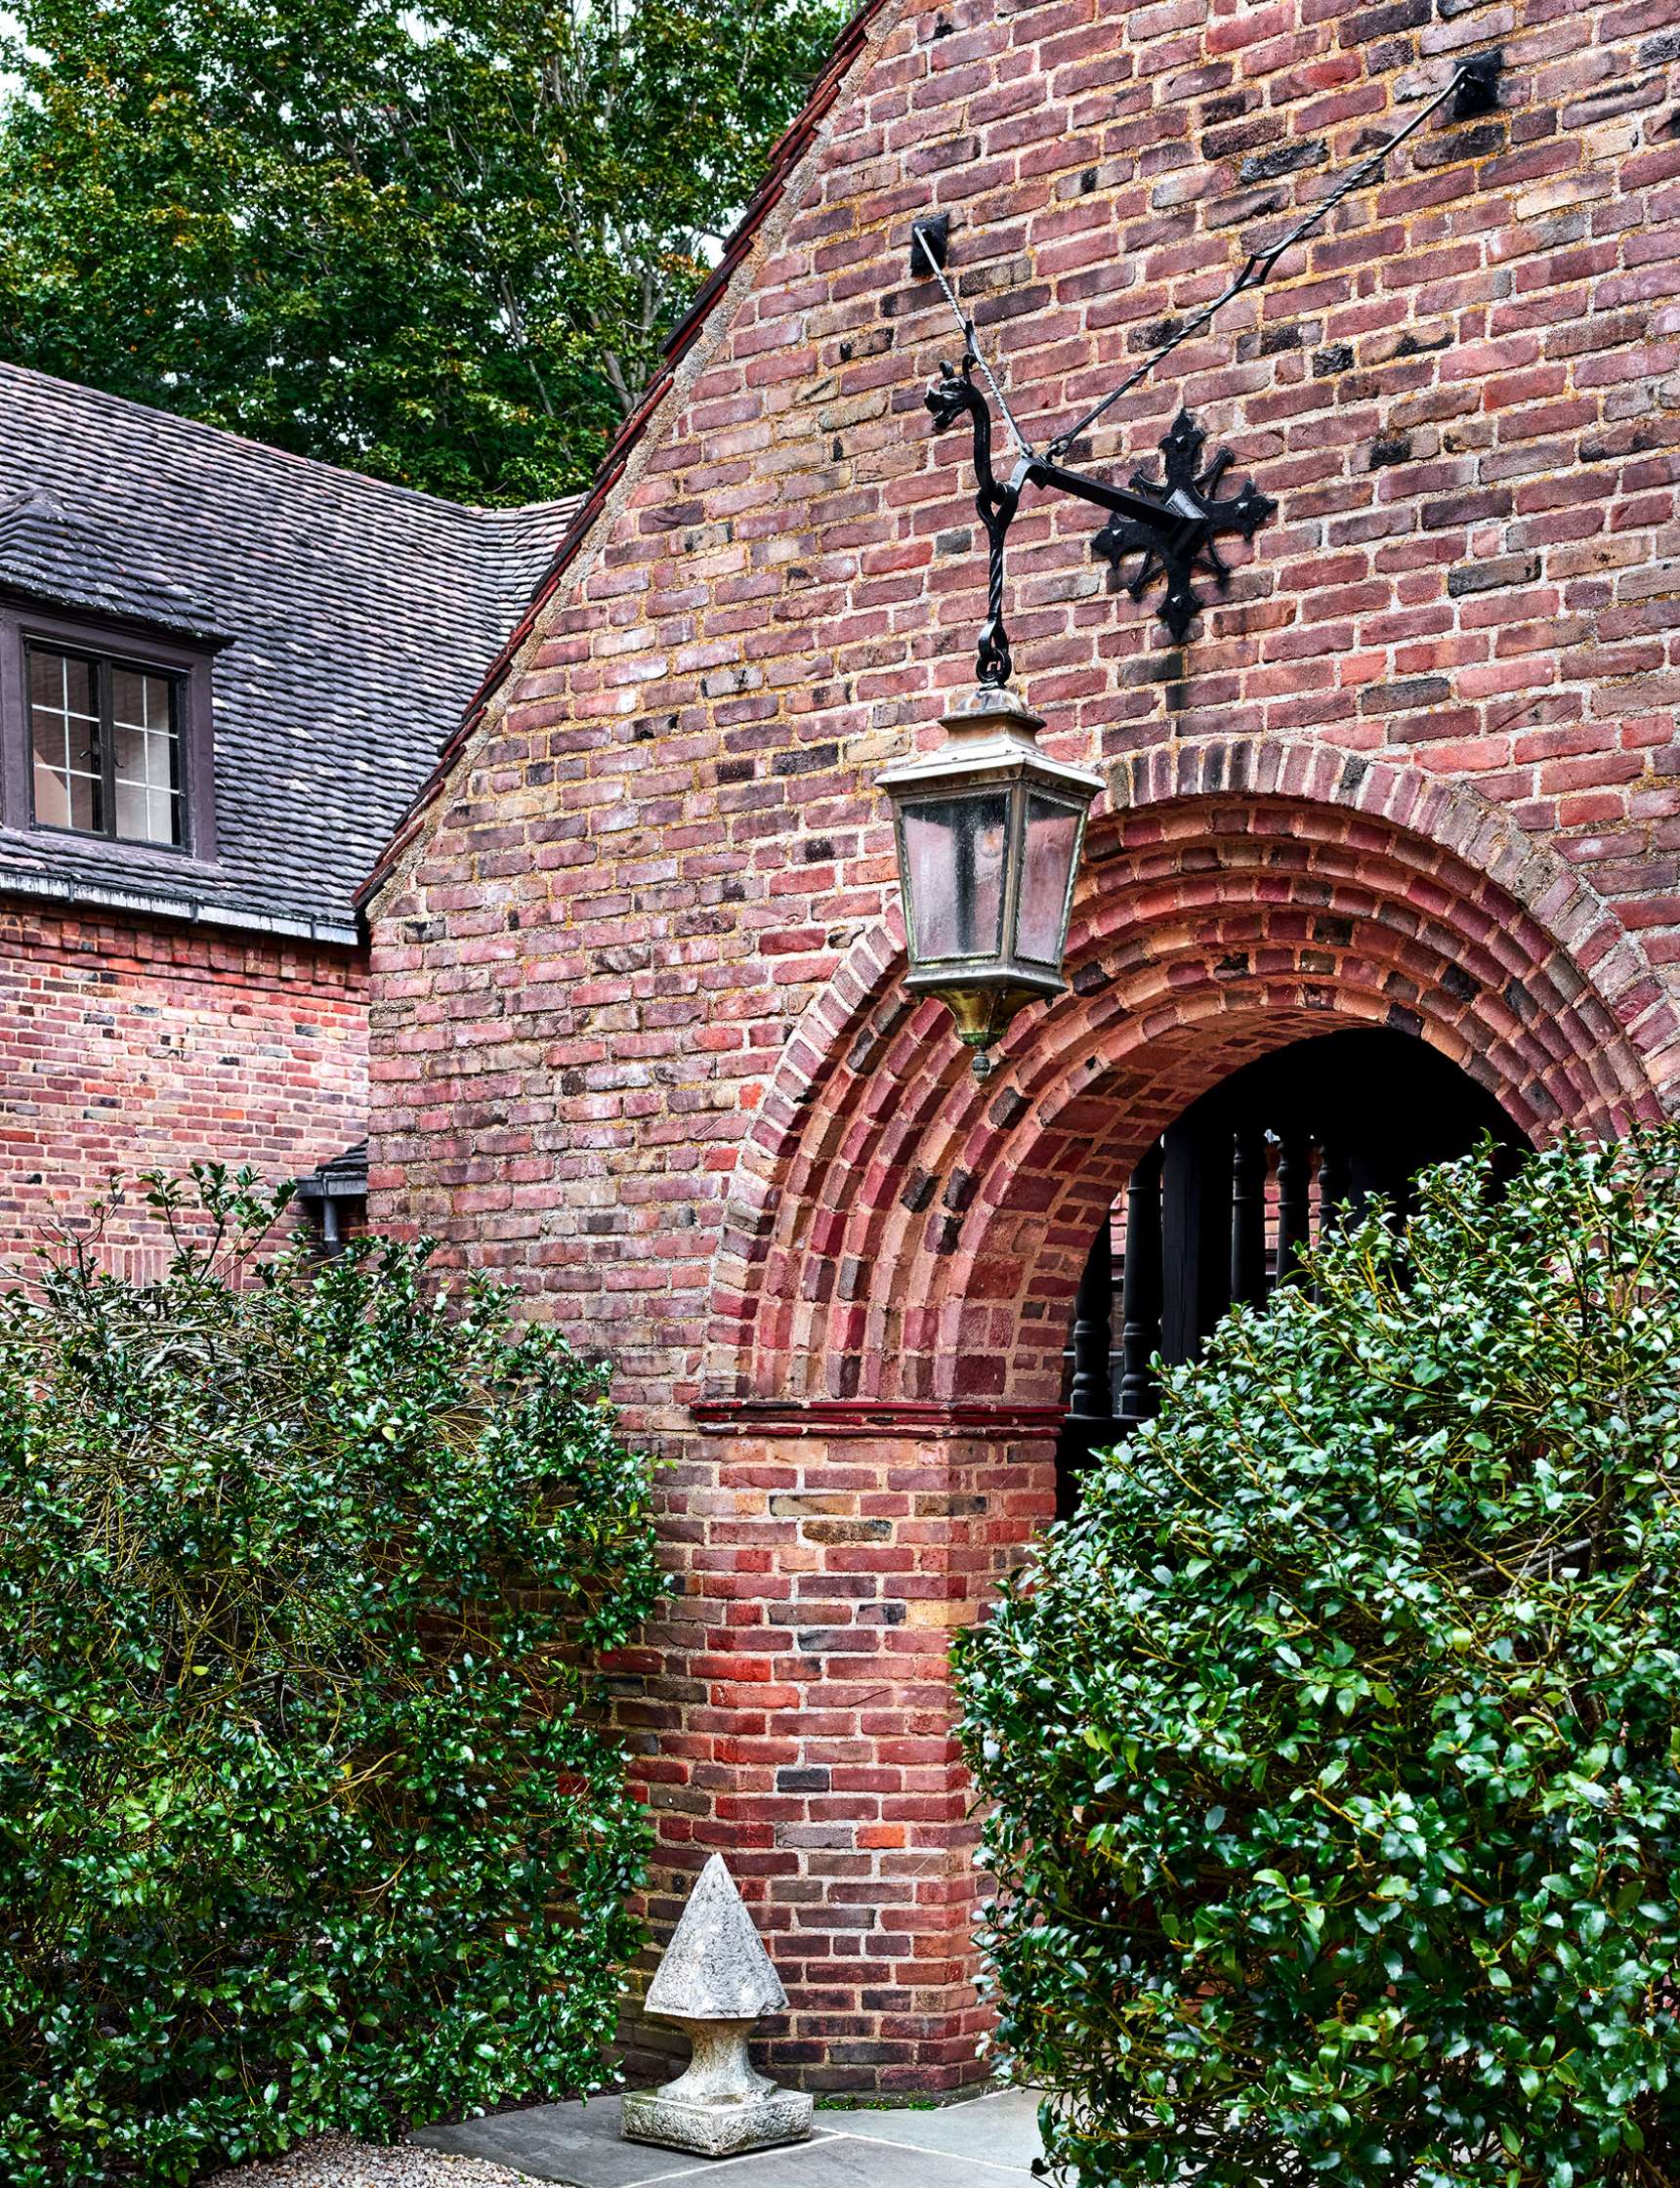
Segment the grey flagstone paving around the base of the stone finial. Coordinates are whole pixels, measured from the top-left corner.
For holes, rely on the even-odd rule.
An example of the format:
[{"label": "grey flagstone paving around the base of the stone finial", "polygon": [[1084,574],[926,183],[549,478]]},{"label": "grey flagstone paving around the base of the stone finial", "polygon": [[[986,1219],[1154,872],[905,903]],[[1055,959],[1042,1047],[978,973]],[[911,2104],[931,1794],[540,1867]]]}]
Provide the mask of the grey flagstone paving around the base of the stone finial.
[{"label": "grey flagstone paving around the base of the stone finial", "polygon": [[416,2142],[488,2157],[567,2188],[1026,2188],[1039,2142],[1030,2090],[1000,2090],[938,2111],[825,2111],[809,2142],[750,2157],[682,2157],[619,2140],[619,2100],[532,2105],[459,2127],[427,2127]]}]

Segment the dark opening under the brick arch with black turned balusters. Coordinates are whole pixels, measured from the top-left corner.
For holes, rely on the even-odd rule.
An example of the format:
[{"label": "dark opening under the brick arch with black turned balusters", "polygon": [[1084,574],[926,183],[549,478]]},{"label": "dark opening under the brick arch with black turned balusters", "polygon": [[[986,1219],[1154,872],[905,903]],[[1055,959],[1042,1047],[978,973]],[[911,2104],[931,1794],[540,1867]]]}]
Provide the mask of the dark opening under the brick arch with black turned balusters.
[{"label": "dark opening under the brick arch with black turned balusters", "polygon": [[1190,1103],[1131,1173],[1085,1262],[1057,1510],[1076,1508],[1092,1453],[1155,1411],[1155,1354],[1168,1368],[1192,1359],[1234,1302],[1291,1280],[1337,1210],[1380,1197],[1404,1214],[1418,1171],[1483,1133],[1507,1164],[1529,1144],[1457,1063],[1387,1028],[1293,1041]]}]

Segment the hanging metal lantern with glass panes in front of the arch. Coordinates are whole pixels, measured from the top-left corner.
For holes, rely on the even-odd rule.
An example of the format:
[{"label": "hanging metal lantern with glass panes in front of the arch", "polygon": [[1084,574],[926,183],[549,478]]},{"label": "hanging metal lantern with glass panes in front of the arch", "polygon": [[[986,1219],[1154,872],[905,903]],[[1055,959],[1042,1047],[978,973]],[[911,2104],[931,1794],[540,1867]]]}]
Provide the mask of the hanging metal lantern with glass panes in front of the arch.
[{"label": "hanging metal lantern with glass panes in front of the arch", "polygon": [[875,783],[897,823],[906,987],[949,1006],[984,1079],[1022,1004],[1065,985],[1078,847],[1102,777],[1048,759],[1043,718],[1006,687],[976,687],[943,724],[938,750],[895,759]]}]

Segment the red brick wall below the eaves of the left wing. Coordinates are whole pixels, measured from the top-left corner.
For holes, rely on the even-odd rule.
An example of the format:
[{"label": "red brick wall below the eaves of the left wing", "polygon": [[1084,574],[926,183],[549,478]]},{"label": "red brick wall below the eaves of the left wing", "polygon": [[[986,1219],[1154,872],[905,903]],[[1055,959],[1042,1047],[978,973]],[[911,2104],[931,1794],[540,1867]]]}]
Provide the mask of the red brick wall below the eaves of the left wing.
[{"label": "red brick wall below the eaves of the left wing", "polygon": [[[0,1258],[112,1171],[252,1164],[278,1182],[365,1131],[359,952],[0,904]],[[136,1210],[109,1265],[160,1267]]]}]

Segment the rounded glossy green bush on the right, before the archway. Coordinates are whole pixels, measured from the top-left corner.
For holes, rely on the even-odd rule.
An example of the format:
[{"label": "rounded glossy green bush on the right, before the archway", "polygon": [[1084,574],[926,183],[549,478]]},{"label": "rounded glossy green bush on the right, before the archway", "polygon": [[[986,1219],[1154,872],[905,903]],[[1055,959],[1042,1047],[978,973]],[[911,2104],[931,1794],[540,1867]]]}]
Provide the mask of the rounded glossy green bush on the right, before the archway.
[{"label": "rounded glossy green bush on the right, before the archway", "polygon": [[1680,2179],[1680,1131],[1236,1313],[958,1656],[1002,2037],[1111,2181]]}]

